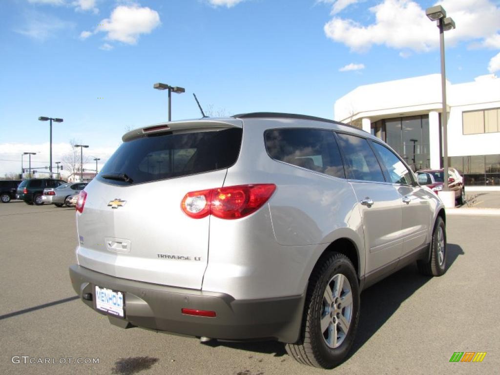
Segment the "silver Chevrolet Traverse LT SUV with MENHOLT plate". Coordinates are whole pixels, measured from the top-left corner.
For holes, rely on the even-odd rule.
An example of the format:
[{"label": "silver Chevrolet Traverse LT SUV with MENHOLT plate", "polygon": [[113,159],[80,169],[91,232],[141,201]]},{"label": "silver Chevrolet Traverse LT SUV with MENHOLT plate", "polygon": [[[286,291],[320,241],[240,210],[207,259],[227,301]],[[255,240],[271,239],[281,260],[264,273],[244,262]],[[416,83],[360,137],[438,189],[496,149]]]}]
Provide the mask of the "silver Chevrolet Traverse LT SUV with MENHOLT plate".
[{"label": "silver Chevrolet Traverse LT SUV with MENHOLT plate", "polygon": [[358,128],[248,113],[122,139],[80,192],[69,268],[113,324],[275,339],[331,368],[353,343],[363,288],[413,261],[445,271],[441,201]]}]

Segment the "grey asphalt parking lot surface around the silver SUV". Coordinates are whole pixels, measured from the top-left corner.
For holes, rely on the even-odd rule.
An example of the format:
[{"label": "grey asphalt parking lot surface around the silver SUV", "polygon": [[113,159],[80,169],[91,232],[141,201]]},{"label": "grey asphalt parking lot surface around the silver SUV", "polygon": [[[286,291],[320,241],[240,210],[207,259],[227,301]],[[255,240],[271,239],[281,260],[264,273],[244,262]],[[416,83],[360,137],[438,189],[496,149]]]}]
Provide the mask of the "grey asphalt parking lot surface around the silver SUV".
[{"label": "grey asphalt parking lot surface around the silver SUV", "polygon": [[[2,374],[493,374],[500,368],[500,216],[447,218],[442,277],[421,276],[411,265],[363,291],[353,350],[333,370],[300,365],[275,342],[201,344],[110,325],[69,283],[74,209],[12,201],[0,204],[0,219]],[[449,362],[455,351],[487,354],[480,363]],[[99,362],[24,364],[13,356]]]}]

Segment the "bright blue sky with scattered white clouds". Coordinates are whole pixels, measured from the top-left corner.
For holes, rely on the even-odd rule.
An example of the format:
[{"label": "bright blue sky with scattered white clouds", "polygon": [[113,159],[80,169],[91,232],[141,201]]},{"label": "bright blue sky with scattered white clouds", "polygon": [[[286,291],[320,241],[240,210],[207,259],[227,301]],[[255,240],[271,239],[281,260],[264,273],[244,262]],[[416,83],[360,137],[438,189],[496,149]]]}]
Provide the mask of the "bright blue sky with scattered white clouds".
[{"label": "bright blue sky with scattered white clouds", "polygon": [[[438,31],[412,0],[3,0],[0,10],[0,174],[20,152],[48,160],[69,139],[104,160],[125,128],[205,110],[333,118],[361,84],[439,72]],[[439,2],[452,83],[500,70],[500,1]],[[28,149],[29,148],[29,149]],[[85,151],[87,151],[85,150]],[[10,161],[12,160],[12,161]]]}]

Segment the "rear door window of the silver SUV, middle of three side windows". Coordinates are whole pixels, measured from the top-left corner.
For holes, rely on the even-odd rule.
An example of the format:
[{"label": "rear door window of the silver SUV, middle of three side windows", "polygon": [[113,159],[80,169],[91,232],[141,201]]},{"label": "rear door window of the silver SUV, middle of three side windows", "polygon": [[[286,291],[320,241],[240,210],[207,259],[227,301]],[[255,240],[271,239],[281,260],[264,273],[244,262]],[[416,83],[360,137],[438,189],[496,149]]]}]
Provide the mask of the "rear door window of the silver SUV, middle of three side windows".
[{"label": "rear door window of the silver SUV, middle of three side windows", "polygon": [[385,181],[382,169],[366,139],[339,133],[338,141],[344,154],[349,178],[362,181]]}]

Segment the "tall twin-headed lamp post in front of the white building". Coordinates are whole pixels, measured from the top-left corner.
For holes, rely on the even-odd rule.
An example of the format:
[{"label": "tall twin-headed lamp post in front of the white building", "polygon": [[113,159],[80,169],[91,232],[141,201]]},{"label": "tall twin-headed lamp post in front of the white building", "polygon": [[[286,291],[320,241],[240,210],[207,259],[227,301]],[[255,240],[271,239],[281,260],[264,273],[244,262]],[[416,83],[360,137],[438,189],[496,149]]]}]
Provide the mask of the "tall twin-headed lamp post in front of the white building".
[{"label": "tall twin-headed lamp post in front of the white building", "polygon": [[[442,158],[443,158],[443,177],[444,177],[442,191],[448,191],[448,131],[446,124],[447,116],[446,116],[446,72],[444,66],[444,31],[455,28],[455,22],[451,17],[446,17],[446,11],[441,5],[431,6],[430,8],[427,8],[425,10],[425,14],[430,20],[437,21],[437,27],[439,27],[439,50],[441,55],[441,95],[442,95],[441,124],[442,124],[442,137],[443,137]],[[445,192],[444,194],[448,193]]]}]

